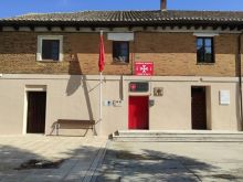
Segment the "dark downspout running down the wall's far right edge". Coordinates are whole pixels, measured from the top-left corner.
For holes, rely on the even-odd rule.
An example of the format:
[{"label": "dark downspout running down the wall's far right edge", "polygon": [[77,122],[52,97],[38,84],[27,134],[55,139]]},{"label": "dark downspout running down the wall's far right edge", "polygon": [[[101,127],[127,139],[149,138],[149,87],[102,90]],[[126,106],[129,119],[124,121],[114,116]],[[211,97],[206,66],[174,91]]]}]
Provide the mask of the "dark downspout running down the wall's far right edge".
[{"label": "dark downspout running down the wall's far right edge", "polygon": [[242,103],[242,63],[241,63],[241,49],[242,49],[242,33],[237,38],[237,65],[239,65],[239,94],[240,94],[240,115],[241,115],[241,130],[243,130],[243,103]]}]

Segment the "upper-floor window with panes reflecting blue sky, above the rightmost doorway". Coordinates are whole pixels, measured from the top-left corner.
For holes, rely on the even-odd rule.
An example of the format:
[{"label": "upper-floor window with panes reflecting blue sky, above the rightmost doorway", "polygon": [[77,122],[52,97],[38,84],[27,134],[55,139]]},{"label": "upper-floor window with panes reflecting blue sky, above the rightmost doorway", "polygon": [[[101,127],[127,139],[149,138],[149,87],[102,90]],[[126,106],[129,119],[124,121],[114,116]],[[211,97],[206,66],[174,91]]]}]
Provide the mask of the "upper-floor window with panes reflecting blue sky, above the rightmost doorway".
[{"label": "upper-floor window with panes reflecting blue sky, above the rightmost doorway", "polygon": [[197,38],[198,63],[214,63],[213,38]]}]

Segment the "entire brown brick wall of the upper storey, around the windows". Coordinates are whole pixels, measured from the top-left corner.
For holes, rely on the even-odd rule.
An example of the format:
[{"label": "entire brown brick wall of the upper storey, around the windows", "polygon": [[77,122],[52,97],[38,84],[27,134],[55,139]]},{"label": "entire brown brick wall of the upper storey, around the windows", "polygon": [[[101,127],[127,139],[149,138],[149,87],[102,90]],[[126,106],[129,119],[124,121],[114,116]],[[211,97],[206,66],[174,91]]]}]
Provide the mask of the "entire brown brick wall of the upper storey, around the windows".
[{"label": "entire brown brick wall of the upper storey, around the windows", "polygon": [[[98,74],[98,33],[52,33],[64,35],[64,61],[36,62],[36,32],[0,33],[0,73]],[[115,64],[112,41],[105,36],[104,74],[129,75],[135,61],[155,63],[156,75],[235,76],[236,35],[215,36],[215,64],[197,64],[192,33],[136,33],[130,42],[130,63]]]}]

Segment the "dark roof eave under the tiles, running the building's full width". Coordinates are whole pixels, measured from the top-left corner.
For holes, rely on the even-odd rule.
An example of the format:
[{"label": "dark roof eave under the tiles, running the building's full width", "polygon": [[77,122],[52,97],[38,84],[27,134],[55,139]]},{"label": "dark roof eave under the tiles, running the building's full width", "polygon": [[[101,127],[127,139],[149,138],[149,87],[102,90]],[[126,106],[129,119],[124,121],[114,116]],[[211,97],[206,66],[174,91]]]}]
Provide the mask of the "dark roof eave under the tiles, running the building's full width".
[{"label": "dark roof eave under the tiles, running the building's full width", "polygon": [[0,26],[243,26],[242,21],[199,21],[199,20],[167,20],[167,21],[33,21],[33,20],[0,20]]}]

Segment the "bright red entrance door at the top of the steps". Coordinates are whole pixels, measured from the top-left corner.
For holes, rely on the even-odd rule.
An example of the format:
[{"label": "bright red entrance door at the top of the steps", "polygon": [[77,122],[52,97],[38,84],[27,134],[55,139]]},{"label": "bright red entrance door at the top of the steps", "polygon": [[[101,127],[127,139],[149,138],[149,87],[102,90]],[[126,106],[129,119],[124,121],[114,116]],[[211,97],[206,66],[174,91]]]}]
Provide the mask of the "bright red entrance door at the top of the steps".
[{"label": "bright red entrance door at the top of the steps", "polygon": [[129,129],[148,129],[148,97],[129,97]]}]

